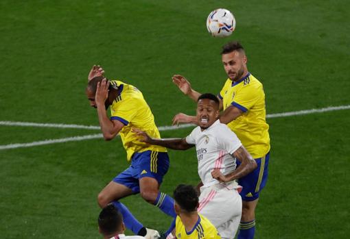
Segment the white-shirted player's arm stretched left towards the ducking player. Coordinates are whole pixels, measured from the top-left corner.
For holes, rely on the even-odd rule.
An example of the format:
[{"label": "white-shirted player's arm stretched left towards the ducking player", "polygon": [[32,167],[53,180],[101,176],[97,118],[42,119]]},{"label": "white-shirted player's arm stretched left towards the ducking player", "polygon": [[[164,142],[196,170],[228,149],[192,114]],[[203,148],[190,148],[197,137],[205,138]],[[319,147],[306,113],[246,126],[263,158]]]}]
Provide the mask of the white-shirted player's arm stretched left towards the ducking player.
[{"label": "white-shirted player's arm stretched left towards the ducking player", "polygon": [[189,144],[186,142],[185,138],[151,138],[144,131],[140,129],[132,129],[132,132],[137,134],[140,137],[141,142],[145,142],[147,144],[154,144],[166,147],[168,149],[176,149],[176,150],[186,150],[191,147],[194,147],[194,144]]}]

